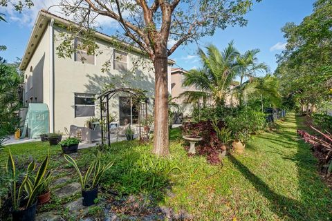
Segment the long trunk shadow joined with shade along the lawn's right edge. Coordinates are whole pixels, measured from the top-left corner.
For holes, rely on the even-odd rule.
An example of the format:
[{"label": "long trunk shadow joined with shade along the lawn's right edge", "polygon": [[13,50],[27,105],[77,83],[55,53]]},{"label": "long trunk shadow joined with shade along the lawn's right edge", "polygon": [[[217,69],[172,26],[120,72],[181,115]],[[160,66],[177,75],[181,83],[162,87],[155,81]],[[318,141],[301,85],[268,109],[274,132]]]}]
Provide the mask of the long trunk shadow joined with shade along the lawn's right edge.
[{"label": "long trunk shadow joined with shade along the lawn's right edge", "polygon": [[[279,218],[330,220],[332,217],[332,192],[320,180],[317,174],[317,167],[315,166],[317,160],[313,157],[310,147],[302,140],[297,140],[295,129],[293,129],[294,126],[292,124],[289,125],[289,123],[293,123],[296,124],[297,128],[304,128],[303,121],[296,118],[295,122],[294,115],[291,115],[291,117],[287,118],[287,123],[282,125],[280,127],[281,130],[276,133],[281,140],[277,142],[279,144],[277,154],[283,155],[284,160],[293,160],[295,162],[298,171],[297,180],[290,180],[289,182],[298,181],[300,200],[276,193],[264,180],[261,180],[255,173],[252,173],[245,164],[237,160],[234,156],[229,155],[228,159],[255,186],[255,189],[270,201],[272,204],[270,209]],[[269,138],[269,135],[266,136],[266,140],[269,140]],[[282,145],[284,141],[285,143]],[[284,155],[283,149],[286,150],[286,148],[289,148],[287,143],[296,146],[296,153],[293,155]],[[276,151],[273,147],[271,149],[273,152]]]}]

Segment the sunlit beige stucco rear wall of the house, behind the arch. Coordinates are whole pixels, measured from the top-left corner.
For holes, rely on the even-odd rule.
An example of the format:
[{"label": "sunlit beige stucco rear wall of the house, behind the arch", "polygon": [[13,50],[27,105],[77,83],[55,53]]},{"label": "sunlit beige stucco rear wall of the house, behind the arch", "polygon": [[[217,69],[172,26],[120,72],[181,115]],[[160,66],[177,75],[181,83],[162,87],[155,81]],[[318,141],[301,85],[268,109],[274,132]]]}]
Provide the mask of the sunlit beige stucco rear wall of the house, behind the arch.
[{"label": "sunlit beige stucco rear wall of the house, behind the arch", "polygon": [[[61,28],[55,26],[55,53],[56,48],[62,39],[59,33],[64,32]],[[107,84],[114,84],[118,88],[131,87],[147,90],[147,96],[154,96],[154,68],[151,61],[145,60],[135,73],[121,73],[113,70],[113,50],[106,41],[96,41],[99,50],[103,51],[101,55],[95,57],[95,64],[82,64],[81,61],[75,61],[71,58],[54,57],[55,70],[55,131],[64,131],[64,127],[69,128],[71,124],[84,126],[84,122],[89,117],[75,117],[74,93],[93,93],[98,94]],[[111,59],[110,71],[102,73],[102,65],[105,61]],[[133,61],[138,59],[137,55],[128,54],[128,70],[133,67]],[[145,67],[145,68],[143,68]],[[119,117],[118,97],[114,97],[111,111]],[[98,102],[96,102],[95,116],[100,117],[98,111]],[[149,113],[152,113],[152,102],[149,106]]]}]

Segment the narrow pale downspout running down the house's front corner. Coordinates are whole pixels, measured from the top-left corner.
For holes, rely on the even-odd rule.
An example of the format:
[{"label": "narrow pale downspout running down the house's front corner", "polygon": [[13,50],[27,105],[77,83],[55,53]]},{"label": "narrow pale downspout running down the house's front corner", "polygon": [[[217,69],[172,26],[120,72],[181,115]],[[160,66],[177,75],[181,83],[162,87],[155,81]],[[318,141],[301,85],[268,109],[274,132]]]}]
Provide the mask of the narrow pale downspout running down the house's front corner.
[{"label": "narrow pale downspout running down the house's front corner", "polygon": [[54,19],[50,19],[49,23],[49,39],[50,39],[50,133],[54,133],[54,59],[53,59],[53,23]]}]

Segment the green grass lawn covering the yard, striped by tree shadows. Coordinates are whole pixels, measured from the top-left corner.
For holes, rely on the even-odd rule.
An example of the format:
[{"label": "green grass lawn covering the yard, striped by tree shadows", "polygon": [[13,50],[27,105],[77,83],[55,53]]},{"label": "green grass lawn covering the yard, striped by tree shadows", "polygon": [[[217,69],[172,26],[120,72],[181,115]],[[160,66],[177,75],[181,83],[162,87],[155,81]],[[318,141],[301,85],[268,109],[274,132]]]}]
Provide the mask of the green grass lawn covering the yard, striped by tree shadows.
[{"label": "green grass lawn covering the yard, striped by tree shadows", "polygon": [[[187,157],[178,128],[171,131],[171,155],[166,159],[151,155],[151,144],[118,142],[103,153],[104,160],[115,164],[102,186],[120,195],[153,195],[153,205],[175,213],[185,210],[194,220],[331,220],[332,191],[317,174],[309,146],[296,134],[297,128],[305,128],[304,118],[290,114],[277,128],[253,137],[245,153],[228,155],[223,166],[211,166],[205,157]],[[47,148],[41,142],[10,146],[21,165],[30,158],[41,162]],[[57,176],[72,174],[75,180],[60,148],[50,149],[50,167]],[[0,150],[1,165],[7,151]],[[79,151],[79,166],[88,164],[93,151]],[[55,202],[57,208],[64,204]]]}]

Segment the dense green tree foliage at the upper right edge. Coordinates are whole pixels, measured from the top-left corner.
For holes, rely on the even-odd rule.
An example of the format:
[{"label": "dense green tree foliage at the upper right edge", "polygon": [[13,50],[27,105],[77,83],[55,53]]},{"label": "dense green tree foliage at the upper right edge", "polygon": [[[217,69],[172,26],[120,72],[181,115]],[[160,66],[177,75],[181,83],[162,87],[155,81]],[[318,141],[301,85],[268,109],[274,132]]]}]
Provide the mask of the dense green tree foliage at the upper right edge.
[{"label": "dense green tree foliage at the upper right edge", "polygon": [[332,1],[318,0],[311,15],[282,28],[286,49],[278,56],[275,75],[285,97],[292,95],[302,106],[331,100]]}]

